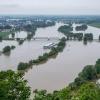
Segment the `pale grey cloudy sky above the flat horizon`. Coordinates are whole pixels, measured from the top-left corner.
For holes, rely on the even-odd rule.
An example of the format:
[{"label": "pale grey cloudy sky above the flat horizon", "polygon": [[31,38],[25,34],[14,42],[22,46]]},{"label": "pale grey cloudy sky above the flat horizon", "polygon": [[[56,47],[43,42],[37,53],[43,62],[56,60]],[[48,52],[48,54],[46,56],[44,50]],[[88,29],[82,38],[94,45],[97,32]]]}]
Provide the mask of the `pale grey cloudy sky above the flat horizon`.
[{"label": "pale grey cloudy sky above the flat horizon", "polygon": [[100,0],[0,0],[0,14],[100,15]]}]

